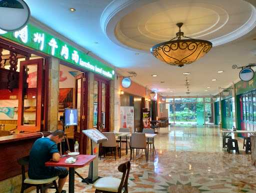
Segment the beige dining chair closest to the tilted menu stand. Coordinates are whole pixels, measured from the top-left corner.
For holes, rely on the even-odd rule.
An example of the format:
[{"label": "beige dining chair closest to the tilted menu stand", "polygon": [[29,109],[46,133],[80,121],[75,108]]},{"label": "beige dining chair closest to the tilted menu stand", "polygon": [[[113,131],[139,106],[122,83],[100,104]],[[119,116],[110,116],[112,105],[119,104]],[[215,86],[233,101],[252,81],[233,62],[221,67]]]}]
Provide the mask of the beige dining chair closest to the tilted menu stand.
[{"label": "beige dining chair closest to the tilted menu stand", "polygon": [[[114,150],[114,160],[116,160],[116,149],[118,150],[118,143],[115,140],[114,132],[102,132],[102,134],[107,137],[107,140],[103,141],[101,143],[101,151],[103,150],[103,153],[104,153],[104,156],[105,156],[106,149],[111,148],[111,152],[112,152],[112,150]],[[118,153],[119,153],[119,151],[118,151]],[[100,152],[99,159],[101,158],[101,154],[102,154],[102,152]]]}]

